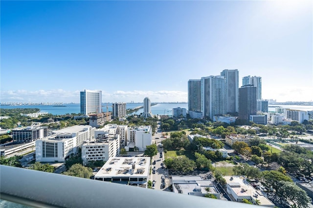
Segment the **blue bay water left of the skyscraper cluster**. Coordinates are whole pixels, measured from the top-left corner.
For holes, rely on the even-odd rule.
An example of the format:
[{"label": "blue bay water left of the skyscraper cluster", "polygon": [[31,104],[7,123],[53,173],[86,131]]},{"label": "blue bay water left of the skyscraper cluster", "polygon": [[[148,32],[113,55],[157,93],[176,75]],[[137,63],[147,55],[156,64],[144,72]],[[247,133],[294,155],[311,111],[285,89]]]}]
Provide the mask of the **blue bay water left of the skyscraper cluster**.
[{"label": "blue bay water left of the skyscraper cluster", "polygon": [[[52,115],[65,115],[67,113],[80,113],[80,104],[64,104],[63,107],[53,106],[53,105],[1,105],[2,109],[12,109],[12,108],[39,108],[40,112],[51,113]],[[143,103],[132,103],[126,104],[126,108],[133,109],[138,106],[143,106]],[[151,106],[151,112],[154,115],[172,115],[172,109],[175,107],[188,108],[188,104],[173,104],[173,103],[162,103]],[[102,104],[102,111],[107,112],[107,104]],[[112,111],[112,104],[108,104],[108,111]],[[133,114],[143,113],[143,108],[135,111]]]}]

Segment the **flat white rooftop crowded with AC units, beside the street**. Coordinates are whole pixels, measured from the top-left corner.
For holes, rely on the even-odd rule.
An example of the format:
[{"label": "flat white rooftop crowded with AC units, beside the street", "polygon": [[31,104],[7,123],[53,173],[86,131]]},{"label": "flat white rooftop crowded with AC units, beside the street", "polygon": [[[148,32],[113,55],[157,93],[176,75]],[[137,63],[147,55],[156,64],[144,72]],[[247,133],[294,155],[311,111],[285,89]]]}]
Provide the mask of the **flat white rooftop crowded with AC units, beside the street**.
[{"label": "flat white rooftop crowded with AC units, beside the street", "polygon": [[95,175],[95,178],[148,177],[150,157],[112,157]]}]

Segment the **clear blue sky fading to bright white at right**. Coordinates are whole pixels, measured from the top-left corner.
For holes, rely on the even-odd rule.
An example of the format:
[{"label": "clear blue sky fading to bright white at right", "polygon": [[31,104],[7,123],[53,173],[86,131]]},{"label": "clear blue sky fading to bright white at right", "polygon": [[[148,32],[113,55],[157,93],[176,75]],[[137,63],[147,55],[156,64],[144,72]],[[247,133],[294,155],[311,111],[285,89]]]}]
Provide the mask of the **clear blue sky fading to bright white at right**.
[{"label": "clear blue sky fading to bright white at right", "polygon": [[1,102],[187,102],[224,69],[313,100],[313,1],[0,1]]}]

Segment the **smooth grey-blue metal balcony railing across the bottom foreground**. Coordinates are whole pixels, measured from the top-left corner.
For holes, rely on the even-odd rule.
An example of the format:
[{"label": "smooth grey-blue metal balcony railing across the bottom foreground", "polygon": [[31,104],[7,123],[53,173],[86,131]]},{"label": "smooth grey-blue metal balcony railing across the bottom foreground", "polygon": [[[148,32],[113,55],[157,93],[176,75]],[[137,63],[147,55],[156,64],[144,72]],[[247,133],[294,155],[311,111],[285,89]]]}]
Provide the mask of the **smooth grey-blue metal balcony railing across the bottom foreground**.
[{"label": "smooth grey-blue metal balcony railing across the bottom foreground", "polygon": [[0,165],[0,198],[35,208],[254,207],[3,165]]}]

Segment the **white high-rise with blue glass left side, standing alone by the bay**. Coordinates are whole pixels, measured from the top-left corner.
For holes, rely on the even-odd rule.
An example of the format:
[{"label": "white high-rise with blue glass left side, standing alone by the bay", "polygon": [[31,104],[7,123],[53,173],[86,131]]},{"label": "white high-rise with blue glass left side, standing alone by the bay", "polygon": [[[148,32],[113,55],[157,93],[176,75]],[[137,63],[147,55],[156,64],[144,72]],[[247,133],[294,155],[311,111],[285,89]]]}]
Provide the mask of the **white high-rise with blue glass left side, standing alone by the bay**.
[{"label": "white high-rise with blue glass left side, standing alone by the bay", "polygon": [[102,113],[102,91],[87,90],[80,92],[80,113]]}]

